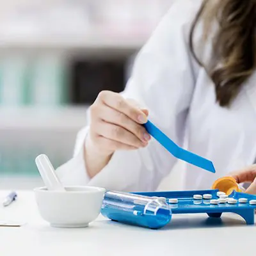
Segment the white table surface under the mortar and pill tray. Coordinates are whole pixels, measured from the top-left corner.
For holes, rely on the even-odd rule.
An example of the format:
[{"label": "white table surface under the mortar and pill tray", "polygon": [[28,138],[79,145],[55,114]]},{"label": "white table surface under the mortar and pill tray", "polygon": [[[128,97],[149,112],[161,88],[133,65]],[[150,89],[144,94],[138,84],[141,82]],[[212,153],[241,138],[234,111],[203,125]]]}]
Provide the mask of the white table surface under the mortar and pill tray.
[{"label": "white table surface under the mortar and pill tray", "polygon": [[[3,200],[8,191],[0,191]],[[99,216],[88,228],[52,228],[40,218],[32,191],[18,191],[17,201],[0,206],[0,220],[25,221],[0,227],[0,255],[256,255],[256,227],[236,214],[220,219],[206,214],[174,215],[161,230],[132,227]],[[254,243],[253,243],[254,242]]]}]

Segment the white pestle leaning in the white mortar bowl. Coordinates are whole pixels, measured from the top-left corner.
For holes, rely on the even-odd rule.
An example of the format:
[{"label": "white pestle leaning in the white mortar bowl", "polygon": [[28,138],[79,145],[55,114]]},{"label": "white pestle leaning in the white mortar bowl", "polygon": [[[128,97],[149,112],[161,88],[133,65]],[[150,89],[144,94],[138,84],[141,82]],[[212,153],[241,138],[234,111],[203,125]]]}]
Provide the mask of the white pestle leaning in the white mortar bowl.
[{"label": "white pestle leaning in the white mortar bowl", "polygon": [[36,166],[48,190],[66,191],[56,176],[49,158],[45,155],[36,157]]}]

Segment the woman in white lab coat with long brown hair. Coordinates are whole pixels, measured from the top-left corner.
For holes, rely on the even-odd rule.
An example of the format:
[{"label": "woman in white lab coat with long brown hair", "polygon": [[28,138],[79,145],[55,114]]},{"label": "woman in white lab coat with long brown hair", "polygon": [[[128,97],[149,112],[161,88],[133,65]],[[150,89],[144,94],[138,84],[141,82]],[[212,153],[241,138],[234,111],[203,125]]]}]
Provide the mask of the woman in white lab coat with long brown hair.
[{"label": "woman in white lab coat with long brown hair", "polygon": [[[58,169],[60,179],[157,189],[177,159],[147,134],[141,125],[147,118],[213,161],[216,175],[188,165],[185,189],[209,189],[219,177],[255,163],[255,19],[256,0],[175,1],[138,54],[125,91],[102,92],[95,100],[74,158]],[[237,181],[252,182],[254,168]]]}]

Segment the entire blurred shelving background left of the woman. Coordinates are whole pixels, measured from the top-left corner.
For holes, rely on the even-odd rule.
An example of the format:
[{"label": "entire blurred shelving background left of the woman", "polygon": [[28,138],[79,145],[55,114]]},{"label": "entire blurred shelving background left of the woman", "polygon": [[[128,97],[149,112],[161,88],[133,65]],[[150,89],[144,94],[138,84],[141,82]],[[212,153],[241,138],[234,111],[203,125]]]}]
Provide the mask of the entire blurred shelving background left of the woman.
[{"label": "entire blurred shelving background left of the woman", "polygon": [[73,155],[101,90],[121,92],[174,0],[0,0],[0,188],[33,188],[35,157]]}]

